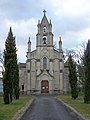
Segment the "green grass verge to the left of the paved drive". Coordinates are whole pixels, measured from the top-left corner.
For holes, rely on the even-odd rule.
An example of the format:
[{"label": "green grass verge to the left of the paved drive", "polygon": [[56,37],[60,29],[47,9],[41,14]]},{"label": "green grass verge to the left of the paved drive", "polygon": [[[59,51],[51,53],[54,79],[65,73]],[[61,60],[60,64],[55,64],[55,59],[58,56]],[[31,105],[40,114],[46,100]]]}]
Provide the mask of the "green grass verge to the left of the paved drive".
[{"label": "green grass verge to the left of the paved drive", "polygon": [[32,99],[30,96],[22,95],[19,100],[13,100],[9,105],[5,105],[0,97],[0,120],[11,120],[13,116]]}]

